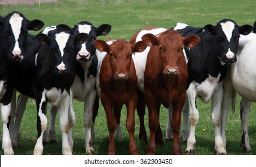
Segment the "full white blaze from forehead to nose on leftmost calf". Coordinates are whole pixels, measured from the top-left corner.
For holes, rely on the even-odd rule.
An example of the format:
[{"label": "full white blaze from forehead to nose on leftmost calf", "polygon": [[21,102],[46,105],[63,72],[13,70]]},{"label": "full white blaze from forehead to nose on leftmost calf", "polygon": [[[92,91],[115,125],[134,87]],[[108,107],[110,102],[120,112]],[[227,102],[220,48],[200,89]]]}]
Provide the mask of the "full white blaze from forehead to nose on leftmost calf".
[{"label": "full white blaze from forehead to nose on leftmost calf", "polygon": [[22,20],[23,18],[20,17],[19,14],[14,13],[13,16],[11,16],[9,23],[11,24],[11,29],[13,29],[13,35],[14,35],[14,39],[15,39],[15,45],[14,45],[14,49],[13,52],[20,52],[20,47],[19,47],[19,36],[20,36],[20,29],[22,27]]}]

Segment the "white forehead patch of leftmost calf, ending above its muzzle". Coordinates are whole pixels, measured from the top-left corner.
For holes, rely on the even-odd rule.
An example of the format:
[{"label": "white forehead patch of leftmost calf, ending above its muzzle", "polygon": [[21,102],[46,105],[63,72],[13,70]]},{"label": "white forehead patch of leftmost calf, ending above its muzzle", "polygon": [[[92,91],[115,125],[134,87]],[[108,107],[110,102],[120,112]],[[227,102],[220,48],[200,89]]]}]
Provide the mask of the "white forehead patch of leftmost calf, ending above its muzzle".
[{"label": "white forehead patch of leftmost calf, ending above its muzzle", "polygon": [[23,17],[20,17],[20,15],[17,13],[14,13],[13,16],[10,17],[9,23],[11,24],[15,41],[19,39],[20,29],[22,28],[22,20]]}]

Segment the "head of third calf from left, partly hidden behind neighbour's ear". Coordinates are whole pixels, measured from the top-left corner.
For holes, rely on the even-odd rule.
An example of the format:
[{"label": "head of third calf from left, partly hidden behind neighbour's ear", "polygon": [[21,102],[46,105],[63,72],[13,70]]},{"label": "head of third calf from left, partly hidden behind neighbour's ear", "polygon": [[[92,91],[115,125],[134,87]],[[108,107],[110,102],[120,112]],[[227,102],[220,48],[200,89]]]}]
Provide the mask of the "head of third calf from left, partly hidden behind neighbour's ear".
[{"label": "head of third calf from left, partly hidden behind neighbour's ear", "polygon": [[74,27],[74,35],[78,33],[87,33],[89,38],[84,44],[75,45],[75,54],[77,54],[77,60],[90,61],[93,55],[95,55],[96,48],[93,45],[93,41],[100,35],[107,35],[111,30],[109,24],[102,24],[99,27],[95,27],[88,21],[82,21]]}]

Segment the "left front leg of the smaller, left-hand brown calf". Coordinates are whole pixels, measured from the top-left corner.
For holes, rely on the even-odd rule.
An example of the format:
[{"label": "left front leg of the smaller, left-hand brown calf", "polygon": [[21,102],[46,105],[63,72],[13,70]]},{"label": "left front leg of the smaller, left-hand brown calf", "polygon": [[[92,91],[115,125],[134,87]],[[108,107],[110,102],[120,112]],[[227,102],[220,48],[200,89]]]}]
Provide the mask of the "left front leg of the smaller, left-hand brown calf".
[{"label": "left front leg of the smaller, left-hand brown calf", "polygon": [[109,97],[104,97],[101,95],[101,103],[105,109],[106,113],[106,124],[108,126],[109,132],[109,146],[108,146],[108,154],[114,155],[117,154],[117,148],[115,147],[115,130],[117,129],[117,120],[112,113],[113,104],[112,101],[109,100]]}]

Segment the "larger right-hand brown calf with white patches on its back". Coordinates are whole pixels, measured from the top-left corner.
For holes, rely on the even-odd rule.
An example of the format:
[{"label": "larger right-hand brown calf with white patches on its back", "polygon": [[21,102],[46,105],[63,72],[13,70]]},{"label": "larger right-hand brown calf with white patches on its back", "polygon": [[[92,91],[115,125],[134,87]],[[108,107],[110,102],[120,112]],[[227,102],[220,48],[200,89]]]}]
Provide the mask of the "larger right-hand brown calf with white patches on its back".
[{"label": "larger right-hand brown calf with white patches on its back", "polygon": [[[156,153],[156,132],[159,134],[161,131],[159,126],[161,104],[167,108],[173,106],[171,125],[175,131],[173,154],[181,154],[179,127],[188,78],[183,48],[195,47],[200,42],[200,38],[195,35],[183,38],[176,30],[148,27],[139,30],[130,39],[131,43],[138,41],[144,41],[148,45],[144,52],[136,53],[133,58],[138,76],[138,88],[145,94],[149,112],[150,141],[147,154]],[[138,115],[143,116],[141,108],[137,107],[137,110]],[[157,140],[161,139],[157,138]]]}]

